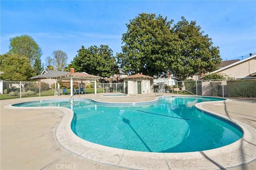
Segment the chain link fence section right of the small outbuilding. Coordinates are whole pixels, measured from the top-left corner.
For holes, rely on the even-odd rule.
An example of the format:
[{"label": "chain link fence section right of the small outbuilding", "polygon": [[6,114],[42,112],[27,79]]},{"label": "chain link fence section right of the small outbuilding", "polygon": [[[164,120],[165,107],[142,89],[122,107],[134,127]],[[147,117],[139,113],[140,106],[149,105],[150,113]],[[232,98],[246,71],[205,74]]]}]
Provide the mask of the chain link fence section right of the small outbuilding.
[{"label": "chain link fence section right of the small outbuilding", "polygon": [[256,98],[256,79],[245,80],[189,80],[154,84],[154,89],[163,93],[191,94],[195,96],[248,97]]}]

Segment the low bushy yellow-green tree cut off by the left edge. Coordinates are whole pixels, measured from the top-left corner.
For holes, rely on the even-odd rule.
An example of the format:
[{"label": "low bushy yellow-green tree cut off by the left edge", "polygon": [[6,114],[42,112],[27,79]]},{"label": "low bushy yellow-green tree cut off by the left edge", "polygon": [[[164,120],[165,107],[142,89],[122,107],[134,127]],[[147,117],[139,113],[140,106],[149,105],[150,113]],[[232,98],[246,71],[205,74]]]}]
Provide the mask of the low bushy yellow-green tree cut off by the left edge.
[{"label": "low bushy yellow-green tree cut off by the left edge", "polygon": [[26,81],[35,76],[36,72],[30,65],[27,57],[19,57],[17,54],[0,55],[1,58],[1,80]]}]

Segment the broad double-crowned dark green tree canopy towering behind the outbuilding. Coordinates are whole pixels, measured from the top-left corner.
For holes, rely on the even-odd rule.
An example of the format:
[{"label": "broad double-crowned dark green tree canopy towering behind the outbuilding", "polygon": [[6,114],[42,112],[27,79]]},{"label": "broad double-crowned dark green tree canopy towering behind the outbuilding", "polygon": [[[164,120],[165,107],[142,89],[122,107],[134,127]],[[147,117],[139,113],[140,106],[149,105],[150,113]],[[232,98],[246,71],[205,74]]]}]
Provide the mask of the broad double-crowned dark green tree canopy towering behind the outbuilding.
[{"label": "broad double-crowned dark green tree canopy towering behind the outbuilding", "polygon": [[173,20],[155,14],[142,13],[130,20],[117,55],[121,69],[150,76],[169,71],[180,80],[215,70],[221,62],[219,47],[196,21],[181,19],[173,27]]}]

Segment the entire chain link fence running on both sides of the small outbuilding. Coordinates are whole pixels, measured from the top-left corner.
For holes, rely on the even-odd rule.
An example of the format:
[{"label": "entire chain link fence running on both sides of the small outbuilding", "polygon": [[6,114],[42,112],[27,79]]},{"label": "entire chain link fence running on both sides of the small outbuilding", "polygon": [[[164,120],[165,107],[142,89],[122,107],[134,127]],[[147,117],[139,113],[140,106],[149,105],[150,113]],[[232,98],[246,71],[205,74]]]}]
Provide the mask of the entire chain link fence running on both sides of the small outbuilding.
[{"label": "entire chain link fence running on both sides of the small outbuilding", "polygon": [[[85,93],[95,93],[95,84],[73,82],[74,90],[84,88]],[[54,96],[56,85],[46,82],[0,81],[0,99]],[[64,93],[63,88],[67,91]],[[154,82],[154,92],[190,94],[195,96],[245,97],[256,98],[256,79],[245,80],[189,80]],[[60,82],[60,90],[70,94],[70,83]],[[69,91],[68,91],[69,90]],[[123,83],[96,83],[96,93],[124,92]]]}]

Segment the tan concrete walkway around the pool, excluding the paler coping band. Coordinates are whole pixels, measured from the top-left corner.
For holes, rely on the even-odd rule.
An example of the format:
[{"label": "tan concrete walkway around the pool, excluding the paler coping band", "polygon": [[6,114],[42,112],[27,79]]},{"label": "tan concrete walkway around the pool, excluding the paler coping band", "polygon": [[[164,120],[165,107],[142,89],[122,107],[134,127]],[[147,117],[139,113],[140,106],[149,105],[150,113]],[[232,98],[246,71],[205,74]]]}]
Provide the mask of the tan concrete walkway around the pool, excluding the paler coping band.
[{"label": "tan concrete walkway around the pool, excluding the paler coping band", "polygon": [[[175,94],[167,94],[175,96]],[[101,102],[144,102],[155,100],[154,94],[143,94],[124,97],[103,97],[102,94],[83,94],[75,95],[74,98],[91,98]],[[82,156],[78,156],[75,152],[70,152],[60,145],[56,137],[56,129],[62,118],[63,111],[60,109],[8,109],[4,106],[10,104],[33,101],[46,100],[55,98],[70,98],[70,96],[46,96],[36,98],[18,98],[12,100],[0,101],[0,120],[1,120],[1,138],[0,138],[0,169],[81,169],[81,170],[116,170],[126,169],[124,166],[112,166],[102,162],[89,160]],[[208,169],[218,169],[230,167],[232,170],[251,170],[256,169],[256,100],[238,100],[232,99],[230,102],[203,104],[201,107],[210,112],[215,112],[228,117],[234,121],[241,121],[250,125],[252,131],[248,139],[252,141],[241,140],[240,152],[242,163],[233,163],[214,160],[210,161],[215,164]],[[249,128],[250,128],[249,127]],[[249,149],[249,151],[248,151]],[[243,153],[245,153],[243,154]],[[232,157],[233,155],[228,155]],[[208,159],[209,158],[205,158]],[[234,158],[236,159],[236,158]],[[244,160],[244,161],[243,161]],[[200,160],[199,160],[200,161]],[[205,162],[202,160],[198,165]],[[241,161],[240,161],[241,162]],[[182,162],[180,162],[182,164]],[[228,166],[226,166],[228,164]],[[216,166],[218,165],[218,166]],[[176,169],[168,164],[169,169]],[[132,166],[136,169],[139,166]],[[159,166],[156,166],[159,167]],[[184,165],[180,165],[180,169],[184,169]],[[185,166],[186,167],[186,166]],[[195,168],[197,167],[197,168]],[[148,169],[154,169],[148,168]],[[155,168],[157,169],[157,168]],[[185,169],[201,169],[200,166],[187,166]]]}]

